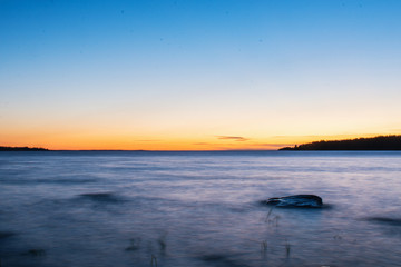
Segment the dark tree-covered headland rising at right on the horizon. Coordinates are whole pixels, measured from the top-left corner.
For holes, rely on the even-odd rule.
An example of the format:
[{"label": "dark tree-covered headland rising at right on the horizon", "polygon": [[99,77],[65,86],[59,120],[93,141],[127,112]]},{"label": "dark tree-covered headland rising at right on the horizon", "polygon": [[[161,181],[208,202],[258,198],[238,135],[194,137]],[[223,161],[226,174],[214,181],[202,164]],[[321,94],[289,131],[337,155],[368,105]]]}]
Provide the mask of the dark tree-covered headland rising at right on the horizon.
[{"label": "dark tree-covered headland rising at right on the horizon", "polygon": [[334,141],[314,141],[278,150],[401,150],[401,136],[378,136]]}]

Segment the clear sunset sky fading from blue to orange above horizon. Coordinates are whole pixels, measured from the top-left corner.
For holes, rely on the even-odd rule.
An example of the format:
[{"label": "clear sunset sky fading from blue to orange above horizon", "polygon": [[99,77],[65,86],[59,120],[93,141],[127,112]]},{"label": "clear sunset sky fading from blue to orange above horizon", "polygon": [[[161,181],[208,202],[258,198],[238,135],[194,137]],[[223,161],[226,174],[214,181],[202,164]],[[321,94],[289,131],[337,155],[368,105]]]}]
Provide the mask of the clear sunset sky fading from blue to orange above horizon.
[{"label": "clear sunset sky fading from blue to orange above horizon", "polygon": [[0,0],[0,146],[401,134],[399,0]]}]

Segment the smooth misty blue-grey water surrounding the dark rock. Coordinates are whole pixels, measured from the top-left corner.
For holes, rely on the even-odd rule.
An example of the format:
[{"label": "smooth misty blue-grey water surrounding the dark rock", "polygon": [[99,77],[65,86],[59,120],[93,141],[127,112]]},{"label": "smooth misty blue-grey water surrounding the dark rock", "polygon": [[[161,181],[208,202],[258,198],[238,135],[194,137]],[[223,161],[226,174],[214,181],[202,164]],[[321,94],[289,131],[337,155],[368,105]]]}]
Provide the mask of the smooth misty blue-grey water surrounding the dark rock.
[{"label": "smooth misty blue-grey water surrounding the dark rock", "polygon": [[[271,209],[315,194],[323,209]],[[401,266],[401,152],[0,152],[1,267]]]}]

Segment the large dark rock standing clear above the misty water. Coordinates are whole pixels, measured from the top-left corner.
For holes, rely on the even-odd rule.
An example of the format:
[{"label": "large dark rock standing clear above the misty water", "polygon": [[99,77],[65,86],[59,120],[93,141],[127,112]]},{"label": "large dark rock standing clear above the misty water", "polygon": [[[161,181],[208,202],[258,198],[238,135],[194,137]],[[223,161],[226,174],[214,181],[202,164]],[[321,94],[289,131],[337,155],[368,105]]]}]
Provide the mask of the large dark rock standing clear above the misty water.
[{"label": "large dark rock standing clear above the misty water", "polygon": [[270,198],[263,204],[285,208],[321,208],[323,200],[315,195],[294,195],[288,197]]}]

